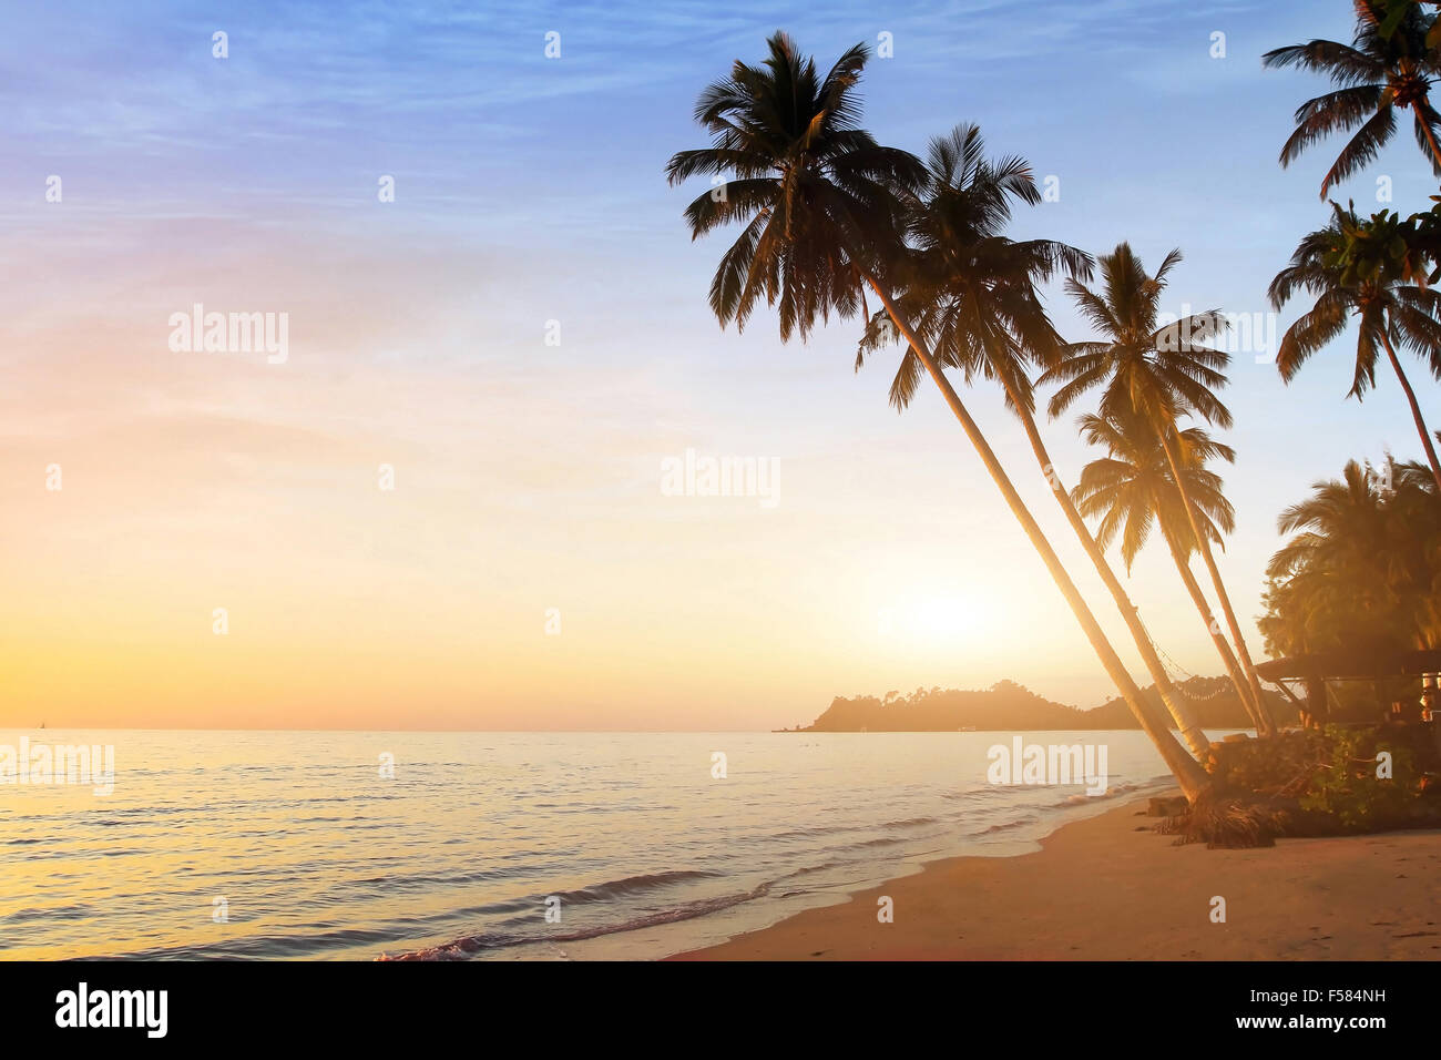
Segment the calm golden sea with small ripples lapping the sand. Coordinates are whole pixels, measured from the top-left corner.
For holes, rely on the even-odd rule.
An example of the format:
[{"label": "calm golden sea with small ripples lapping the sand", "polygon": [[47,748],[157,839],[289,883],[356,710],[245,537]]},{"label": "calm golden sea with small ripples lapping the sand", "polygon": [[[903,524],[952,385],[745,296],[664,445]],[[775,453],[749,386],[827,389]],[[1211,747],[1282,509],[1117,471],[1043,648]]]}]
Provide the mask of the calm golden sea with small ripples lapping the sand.
[{"label": "calm golden sea with small ripples lapping the sand", "polygon": [[0,958],[659,958],[1164,786],[1023,736],[1110,795],[989,785],[996,733],[0,730],[114,747],[108,796],[0,785]]}]

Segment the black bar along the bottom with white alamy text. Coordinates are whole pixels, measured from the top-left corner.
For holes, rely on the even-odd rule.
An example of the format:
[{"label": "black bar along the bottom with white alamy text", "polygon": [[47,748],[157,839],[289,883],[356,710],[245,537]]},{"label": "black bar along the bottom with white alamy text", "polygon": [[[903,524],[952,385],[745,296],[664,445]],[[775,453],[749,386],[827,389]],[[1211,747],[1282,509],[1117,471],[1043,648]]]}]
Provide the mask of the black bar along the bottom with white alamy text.
[{"label": "black bar along the bottom with white alamy text", "polygon": [[[164,1037],[133,1027],[59,1027],[62,992],[166,991]],[[1040,1046],[1255,1038],[1365,1050],[1391,1034],[1434,1033],[1441,976],[1429,963],[572,963],[572,962],[0,962],[6,1051],[26,1041],[432,1048],[471,1041],[604,1040],[682,1034],[706,1048],[751,1050],[739,1028],[782,1025],[814,1040],[867,1027],[940,1033],[960,1047],[986,1033],[1012,1056]],[[1313,991],[1314,994],[1307,994]],[[1334,991],[1334,994],[1333,994]],[[154,995],[159,1002],[159,994]],[[108,1005],[107,1001],[102,1005]],[[151,1010],[135,1010],[159,1015]],[[1239,1025],[1280,1018],[1280,1025]],[[1317,1027],[1319,1018],[1380,1025]],[[1294,1025],[1290,1021],[1297,1021]],[[159,1024],[159,1021],[154,1021]],[[1176,1035],[1182,1035],[1177,1038]],[[601,1038],[597,1038],[601,1035]],[[715,1037],[718,1035],[718,1037]],[[1133,1035],[1140,1035],[1133,1038]],[[1382,1037],[1376,1037],[1382,1035]],[[1415,1035],[1421,1035],[1417,1038]],[[510,1051],[510,1050],[507,1050]]]}]

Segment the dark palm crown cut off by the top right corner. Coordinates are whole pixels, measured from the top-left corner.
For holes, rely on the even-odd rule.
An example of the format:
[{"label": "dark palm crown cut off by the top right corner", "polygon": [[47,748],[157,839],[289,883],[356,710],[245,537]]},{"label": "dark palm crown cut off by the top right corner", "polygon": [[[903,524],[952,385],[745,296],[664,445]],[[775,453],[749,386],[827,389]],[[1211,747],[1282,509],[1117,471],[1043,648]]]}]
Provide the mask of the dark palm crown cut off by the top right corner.
[{"label": "dark palm crown cut off by the top right corner", "polygon": [[1308,100],[1295,111],[1295,131],[1281,149],[1288,166],[1303,150],[1336,131],[1352,131],[1350,141],[1321,180],[1324,199],[1331,185],[1366,166],[1396,133],[1396,108],[1411,110],[1417,143],[1441,175],[1437,127],[1441,114],[1431,107],[1429,89],[1441,65],[1427,46],[1437,16],[1412,4],[1389,32],[1382,30],[1385,10],[1376,0],[1356,0],[1356,32],[1350,45],[1311,40],[1277,48],[1261,56],[1267,66],[1298,66],[1326,74],[1336,91]]}]

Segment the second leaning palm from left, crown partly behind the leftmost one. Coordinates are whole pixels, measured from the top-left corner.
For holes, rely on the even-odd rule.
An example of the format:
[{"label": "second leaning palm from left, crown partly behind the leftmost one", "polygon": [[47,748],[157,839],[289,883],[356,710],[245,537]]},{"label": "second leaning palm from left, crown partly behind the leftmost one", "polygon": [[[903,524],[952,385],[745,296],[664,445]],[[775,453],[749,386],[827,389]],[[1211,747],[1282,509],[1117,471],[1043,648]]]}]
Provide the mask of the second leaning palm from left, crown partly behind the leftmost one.
[{"label": "second leaning palm from left, crown partly behind the leftmost one", "polygon": [[[1071,502],[1036,427],[1030,369],[1055,362],[1061,336],[1040,304],[1035,283],[1049,280],[1058,270],[1089,278],[1091,257],[1050,239],[1007,239],[1001,231],[1010,219],[1013,200],[1040,202],[1030,166],[1023,159],[987,160],[976,125],[957,125],[950,136],[934,138],[925,186],[918,196],[904,199],[909,245],[896,268],[898,281],[905,284],[896,303],[942,366],[960,369],[967,381],[980,374],[1001,385],[1007,407],[1025,427],[1040,473],[1115,600],[1161,702],[1192,753],[1202,757],[1209,748],[1206,734],[1173,685],[1136,606]],[[867,352],[895,337],[889,319],[878,313],[862,339],[856,368]],[[919,358],[906,352],[891,385],[891,402],[898,410],[915,395],[921,371]]]}]

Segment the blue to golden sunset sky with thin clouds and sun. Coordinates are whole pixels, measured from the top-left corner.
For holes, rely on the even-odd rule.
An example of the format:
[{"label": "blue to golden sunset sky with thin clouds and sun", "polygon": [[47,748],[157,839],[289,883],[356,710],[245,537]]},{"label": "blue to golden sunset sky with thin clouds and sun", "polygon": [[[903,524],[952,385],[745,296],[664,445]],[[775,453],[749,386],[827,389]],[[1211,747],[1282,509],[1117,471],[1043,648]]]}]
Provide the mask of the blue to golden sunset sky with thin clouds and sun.
[{"label": "blue to golden sunset sky with thin clouds and sun", "polygon": [[[0,727],[771,728],[1003,678],[1111,698],[940,395],[886,404],[899,350],[853,372],[855,320],[782,345],[774,313],[710,314],[728,239],[690,241],[708,185],[663,167],[775,29],[821,65],[889,35],[862,84],[880,140],[978,123],[1059,190],[1013,235],[1151,268],[1180,247],[1170,312],[1267,312],[1327,219],[1339,141],[1277,163],[1324,84],[1259,56],[1349,40],[1343,0],[24,6],[0,39]],[[1380,176],[1428,205],[1409,127],[1337,195],[1380,209]],[[284,359],[174,349],[196,304],[285,314]],[[1347,342],[1291,385],[1251,350],[1229,372],[1221,564],[1258,659],[1278,512],[1349,459],[1419,456],[1392,378],[1344,399]],[[999,394],[967,401],[1148,684]],[[1087,410],[1046,425],[1068,485],[1101,456]],[[769,498],[677,495],[687,450],[772,469]],[[1177,673],[1222,672],[1159,542],[1124,581]]]}]

